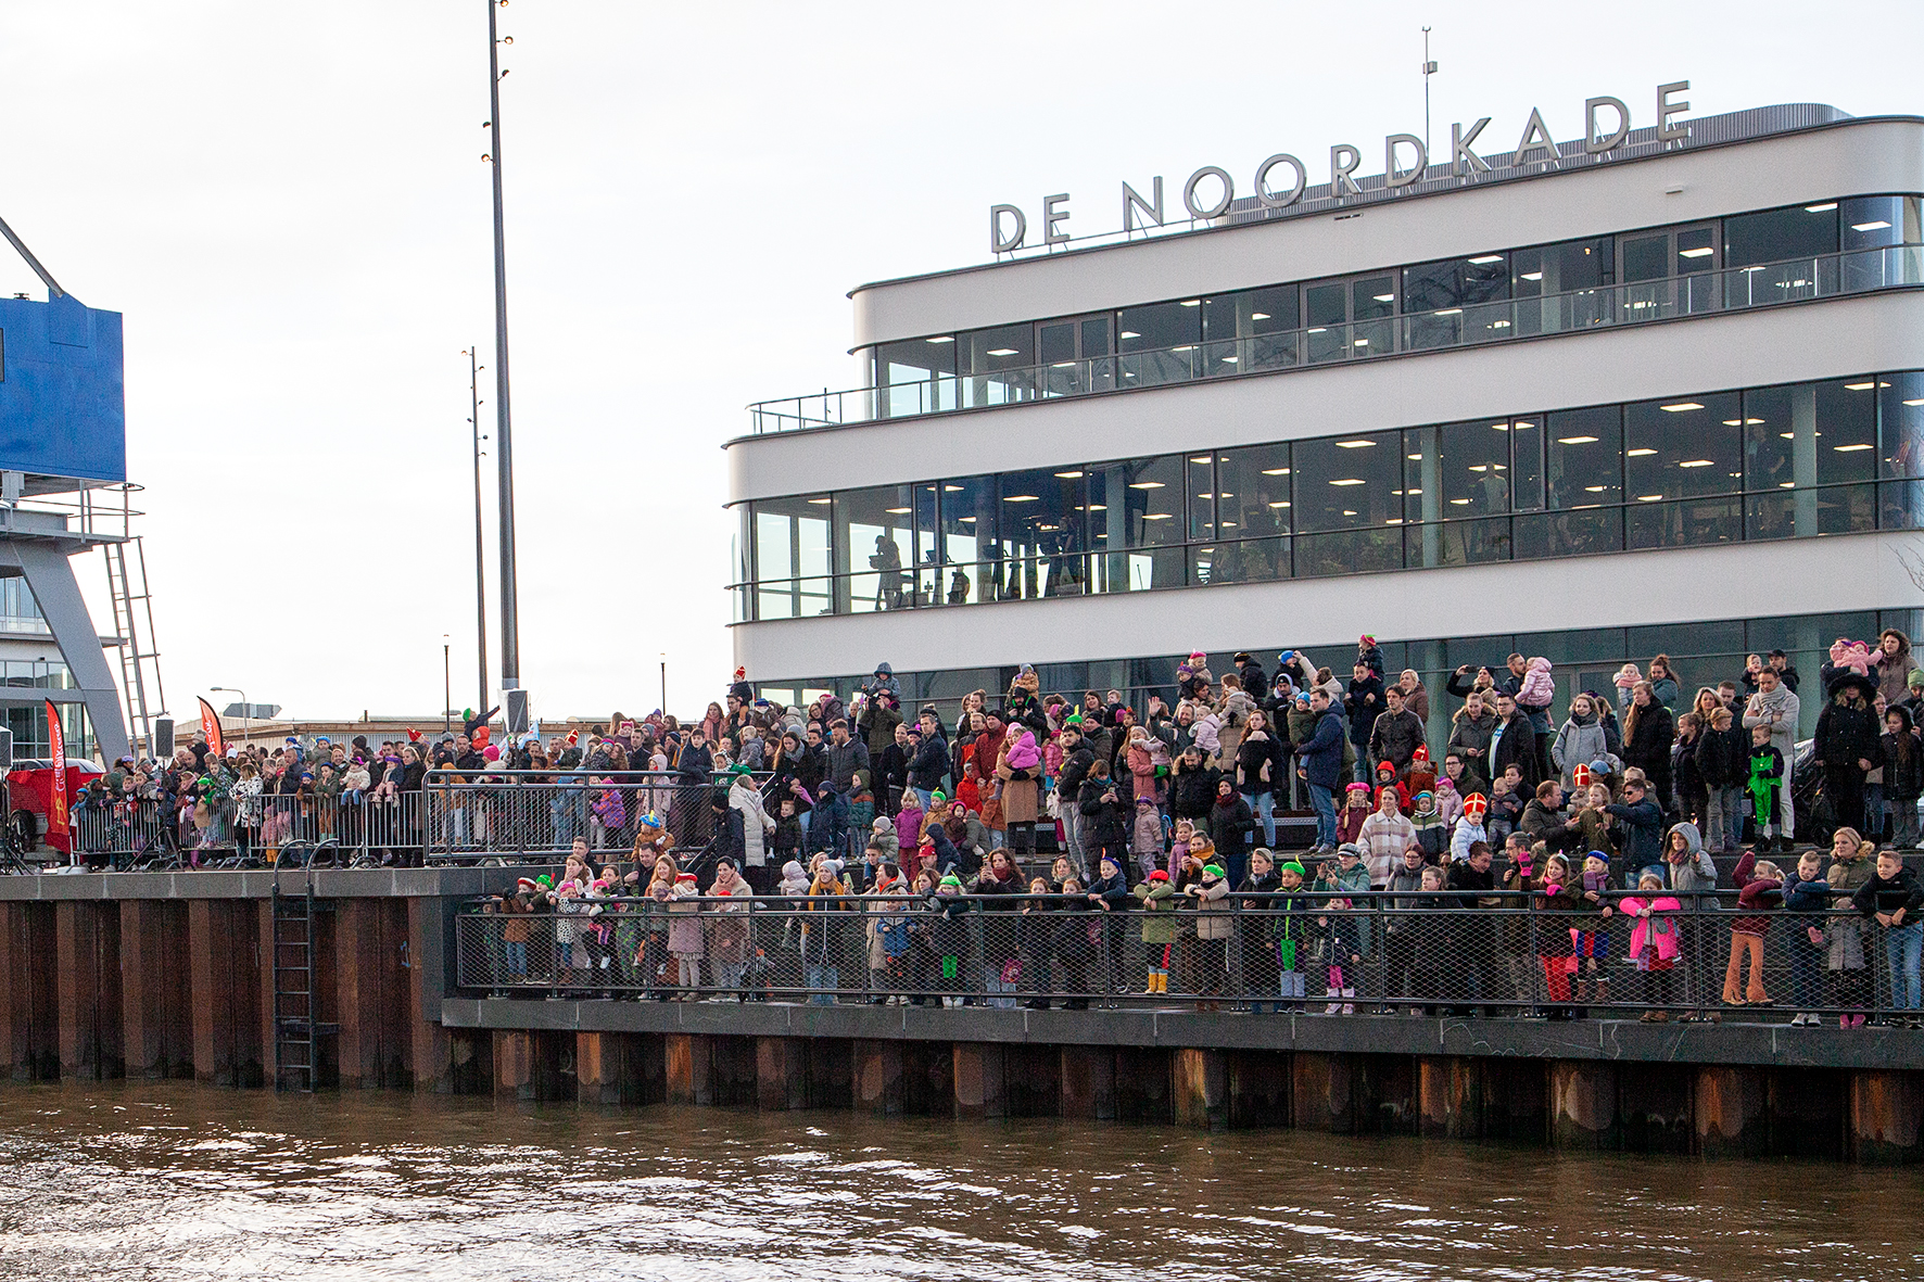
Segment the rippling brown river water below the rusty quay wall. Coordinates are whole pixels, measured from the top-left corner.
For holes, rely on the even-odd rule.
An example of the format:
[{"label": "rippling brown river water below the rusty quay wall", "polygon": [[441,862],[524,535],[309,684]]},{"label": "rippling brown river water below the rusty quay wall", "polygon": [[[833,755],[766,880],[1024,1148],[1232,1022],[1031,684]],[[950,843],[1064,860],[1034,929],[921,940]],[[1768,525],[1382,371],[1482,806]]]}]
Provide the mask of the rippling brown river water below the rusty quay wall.
[{"label": "rippling brown river water below the rusty quay wall", "polygon": [[1924,1276],[1924,1180],[1289,1130],[0,1088],[4,1278]]}]

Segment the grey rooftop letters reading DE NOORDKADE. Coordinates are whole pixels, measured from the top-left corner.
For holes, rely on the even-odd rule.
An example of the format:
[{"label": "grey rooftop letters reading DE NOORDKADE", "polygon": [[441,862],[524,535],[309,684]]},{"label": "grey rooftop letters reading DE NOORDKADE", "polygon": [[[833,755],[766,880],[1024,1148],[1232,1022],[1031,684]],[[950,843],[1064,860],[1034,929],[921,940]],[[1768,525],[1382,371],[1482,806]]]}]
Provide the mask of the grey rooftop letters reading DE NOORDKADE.
[{"label": "grey rooftop letters reading DE NOORDKADE", "polygon": [[[1689,102],[1678,98],[1678,94],[1689,90],[1689,81],[1674,81],[1670,85],[1657,87],[1657,131],[1655,141],[1658,144],[1670,144],[1689,137],[1689,127],[1676,123],[1676,117],[1689,110]],[[1483,173],[1495,173],[1499,169],[1524,169],[1528,166],[1547,166],[1560,167],[1566,160],[1564,152],[1558,150],[1557,141],[1551,137],[1549,127],[1543,123],[1543,112],[1530,108],[1530,117],[1524,121],[1524,133],[1518,137],[1516,146],[1508,152],[1489,152],[1489,142],[1481,139],[1483,129],[1489,125],[1489,117],[1483,115],[1468,129],[1462,123],[1451,125],[1451,154],[1447,177],[1451,179],[1470,179]],[[1608,94],[1599,98],[1583,100],[1583,152],[1591,160],[1612,160],[1612,152],[1618,152],[1630,139],[1630,106],[1622,98],[1612,98]],[[1426,179],[1430,169],[1430,148],[1414,133],[1391,133],[1383,139],[1383,173],[1374,179],[1370,191],[1356,181],[1356,169],[1362,167],[1362,150],[1351,142],[1337,142],[1329,148],[1329,198],[1337,204],[1345,200],[1360,200],[1366,194],[1372,198],[1383,198],[1399,191],[1410,189]],[[1308,187],[1308,166],[1301,158],[1289,152],[1278,152],[1256,166],[1251,179],[1251,194],[1256,206],[1264,212],[1287,210],[1299,200]],[[1237,191],[1235,179],[1228,169],[1220,166],[1202,166],[1189,175],[1189,181],[1181,187],[1183,210],[1191,219],[1208,221],[1229,214],[1235,204]],[[1247,206],[1245,206],[1247,208]],[[1166,204],[1162,191],[1162,175],[1158,173],[1149,183],[1149,196],[1145,198],[1129,183],[1122,185],[1122,233],[1129,235],[1133,231],[1151,231],[1154,227],[1166,225]],[[1181,214],[1176,214],[1181,218]],[[1041,208],[1041,244],[1068,244],[1070,233],[1066,223],[1070,221],[1070,194],[1056,192],[1052,196],[1043,196]],[[1016,204],[991,204],[989,206],[989,250],[993,254],[1008,254],[1024,248],[1029,235],[1029,218],[1024,214],[1022,206]]]}]

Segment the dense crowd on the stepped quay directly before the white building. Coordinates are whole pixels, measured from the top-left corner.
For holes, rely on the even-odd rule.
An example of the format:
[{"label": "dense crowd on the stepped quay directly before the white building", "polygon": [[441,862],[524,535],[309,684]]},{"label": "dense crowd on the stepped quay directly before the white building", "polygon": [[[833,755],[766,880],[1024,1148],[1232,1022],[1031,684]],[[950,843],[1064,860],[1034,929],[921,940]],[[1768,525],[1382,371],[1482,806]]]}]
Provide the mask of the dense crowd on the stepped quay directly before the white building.
[{"label": "dense crowd on the stepped quay directly before the white building", "polygon": [[[1247,653],[1220,678],[1195,654],[1141,710],[1120,691],[1043,693],[1027,666],[952,716],[910,714],[887,664],[847,705],[804,708],[756,699],[737,672],[662,760],[675,770],[700,745],[722,770],[685,803],[706,799],[710,841],[677,860],[673,824],[650,810],[629,851],[583,837],[558,878],[494,907],[523,947],[554,914],[546,982],[627,974],[658,995],[806,986],[833,1001],[866,970],[854,987],[881,1001],[1183,991],[1574,1016],[1628,997],[1653,1020],[1776,1009],[1764,941],[1791,918],[1772,951],[1787,949],[1795,1024],[1816,1009],[1845,1028],[1866,1009],[1912,1022],[1924,891],[1899,847],[1918,843],[1924,672],[1911,664],[1891,629],[1837,641],[1814,689],[1772,653],[1685,703],[1658,654],[1574,693],[1558,724],[1551,664],[1510,654],[1449,676],[1458,703],[1439,745],[1431,693],[1416,672],[1389,679],[1370,637],[1347,681],[1299,651],[1274,678]],[[1803,697],[1824,706],[1799,762]],[[1291,857],[1279,822],[1303,801],[1314,837]],[[772,955],[747,947],[747,922],[737,951],[737,924],[712,916],[770,897],[802,901],[783,936],[795,984],[754,980]],[[1722,991],[1691,991],[1726,936]],[[504,964],[533,982],[529,962]]]}]

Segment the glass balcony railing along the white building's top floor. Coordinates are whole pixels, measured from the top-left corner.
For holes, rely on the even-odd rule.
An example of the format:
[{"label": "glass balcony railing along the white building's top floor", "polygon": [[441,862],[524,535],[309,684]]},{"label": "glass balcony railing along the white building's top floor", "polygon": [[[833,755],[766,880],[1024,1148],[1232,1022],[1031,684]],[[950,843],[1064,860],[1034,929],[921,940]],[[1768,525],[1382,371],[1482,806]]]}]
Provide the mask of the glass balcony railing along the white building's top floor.
[{"label": "glass balcony railing along the white building's top floor", "polygon": [[1347,325],[1312,325],[981,373],[945,373],[889,387],[822,391],[756,402],[748,406],[748,420],[752,435],[808,431],[1135,387],[1276,373],[1399,352],[1453,350],[1912,285],[1924,285],[1924,246],[1853,250]]}]

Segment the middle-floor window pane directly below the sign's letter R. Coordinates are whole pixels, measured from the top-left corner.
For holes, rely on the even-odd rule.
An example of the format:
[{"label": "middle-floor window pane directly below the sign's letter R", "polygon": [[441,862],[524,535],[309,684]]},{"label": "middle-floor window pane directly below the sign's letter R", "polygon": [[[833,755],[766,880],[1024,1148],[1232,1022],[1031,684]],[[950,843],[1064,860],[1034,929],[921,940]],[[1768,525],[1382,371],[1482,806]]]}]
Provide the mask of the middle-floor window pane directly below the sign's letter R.
[{"label": "middle-floor window pane directly below the sign's letter R", "polygon": [[[1403,433],[1297,441],[1297,574],[1403,566]],[[1339,531],[1339,533],[1324,533]]]}]

